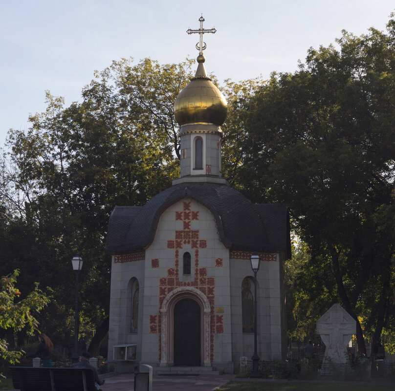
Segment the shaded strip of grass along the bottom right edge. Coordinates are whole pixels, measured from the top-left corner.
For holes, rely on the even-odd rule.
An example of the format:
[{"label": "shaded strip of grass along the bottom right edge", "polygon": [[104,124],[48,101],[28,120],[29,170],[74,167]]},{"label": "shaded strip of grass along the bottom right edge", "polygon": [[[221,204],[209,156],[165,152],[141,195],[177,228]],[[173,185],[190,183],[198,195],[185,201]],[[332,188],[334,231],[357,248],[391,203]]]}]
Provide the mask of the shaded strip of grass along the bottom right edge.
[{"label": "shaded strip of grass along the bottom right edge", "polygon": [[394,385],[341,384],[341,383],[241,383],[230,382],[220,391],[395,391]]}]

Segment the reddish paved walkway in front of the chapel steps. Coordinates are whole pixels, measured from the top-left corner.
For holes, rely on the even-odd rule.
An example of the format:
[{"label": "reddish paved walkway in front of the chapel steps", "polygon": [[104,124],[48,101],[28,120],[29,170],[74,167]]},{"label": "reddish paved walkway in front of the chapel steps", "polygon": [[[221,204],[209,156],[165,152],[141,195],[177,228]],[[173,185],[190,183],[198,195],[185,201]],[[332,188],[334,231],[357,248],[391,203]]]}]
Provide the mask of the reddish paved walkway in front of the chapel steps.
[{"label": "reddish paved walkway in front of the chapel steps", "polygon": [[[235,375],[153,376],[154,391],[212,391],[234,379]],[[123,374],[106,379],[103,391],[133,391],[134,374]]]}]

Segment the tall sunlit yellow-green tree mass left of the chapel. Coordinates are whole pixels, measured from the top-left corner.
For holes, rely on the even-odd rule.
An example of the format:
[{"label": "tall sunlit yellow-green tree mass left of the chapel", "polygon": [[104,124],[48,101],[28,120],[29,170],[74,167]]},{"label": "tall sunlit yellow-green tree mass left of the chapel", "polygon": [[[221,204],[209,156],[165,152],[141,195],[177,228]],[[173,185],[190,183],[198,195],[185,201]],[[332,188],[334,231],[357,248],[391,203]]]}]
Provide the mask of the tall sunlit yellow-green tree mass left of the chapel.
[{"label": "tall sunlit yellow-green tree mass left of the chapel", "polygon": [[[173,103],[192,76],[191,63],[113,62],[84,87],[82,103],[65,107],[63,98],[47,92],[47,109],[29,118],[31,127],[9,132],[12,153],[2,191],[16,206],[3,226],[1,270],[17,266],[28,271],[24,286],[38,279],[53,288],[42,319],[51,338],[70,349],[70,260],[77,251],[84,259],[80,339],[89,341],[94,329],[101,336],[108,329],[110,257],[104,242],[110,212],[114,205],[144,204],[177,176]],[[91,353],[99,345],[93,340]]]}]

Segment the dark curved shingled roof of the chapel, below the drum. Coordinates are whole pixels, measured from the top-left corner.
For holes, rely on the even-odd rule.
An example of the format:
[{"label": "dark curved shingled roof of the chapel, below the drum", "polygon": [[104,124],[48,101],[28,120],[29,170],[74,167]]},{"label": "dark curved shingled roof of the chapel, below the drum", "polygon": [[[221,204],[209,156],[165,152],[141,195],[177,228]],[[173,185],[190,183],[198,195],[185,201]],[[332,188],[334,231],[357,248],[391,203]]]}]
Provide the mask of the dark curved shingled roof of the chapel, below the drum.
[{"label": "dark curved shingled roof of the chapel, below the drum", "polygon": [[237,190],[217,183],[180,183],[155,195],[144,206],[116,206],[110,216],[106,251],[125,254],[148,247],[162,213],[184,197],[211,211],[219,239],[227,248],[285,252],[290,257],[286,206],[254,205]]}]

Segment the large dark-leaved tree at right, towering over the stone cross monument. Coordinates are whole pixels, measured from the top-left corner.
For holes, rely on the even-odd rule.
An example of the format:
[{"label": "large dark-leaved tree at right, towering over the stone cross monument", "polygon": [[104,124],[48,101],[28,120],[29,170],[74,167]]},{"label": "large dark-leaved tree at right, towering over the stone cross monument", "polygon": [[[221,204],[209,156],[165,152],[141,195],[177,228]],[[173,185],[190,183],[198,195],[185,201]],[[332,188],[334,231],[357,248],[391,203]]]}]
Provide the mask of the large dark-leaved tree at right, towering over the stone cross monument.
[{"label": "large dark-leaved tree at right, towering over the stone cross monument", "polygon": [[357,321],[361,351],[362,327],[374,337],[393,328],[394,26],[343,31],[339,49],[309,49],[297,72],[272,75],[241,118],[239,177],[256,170],[247,195],[289,206],[311,255],[307,271],[330,266],[330,301]]}]

